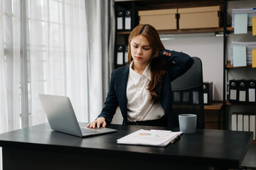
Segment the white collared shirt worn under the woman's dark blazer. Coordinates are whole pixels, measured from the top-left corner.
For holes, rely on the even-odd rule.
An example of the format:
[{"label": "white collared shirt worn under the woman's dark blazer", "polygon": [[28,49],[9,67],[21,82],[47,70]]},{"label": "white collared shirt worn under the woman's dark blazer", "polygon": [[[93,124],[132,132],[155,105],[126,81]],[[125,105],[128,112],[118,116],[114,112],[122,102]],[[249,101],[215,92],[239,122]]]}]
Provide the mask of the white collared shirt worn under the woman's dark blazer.
[{"label": "white collared shirt worn under the woman's dark blazer", "polygon": [[142,120],[156,120],[164,115],[164,109],[160,103],[151,103],[149,98],[148,84],[151,80],[149,64],[143,74],[138,74],[129,67],[129,77],[127,81],[127,118],[130,122]]}]

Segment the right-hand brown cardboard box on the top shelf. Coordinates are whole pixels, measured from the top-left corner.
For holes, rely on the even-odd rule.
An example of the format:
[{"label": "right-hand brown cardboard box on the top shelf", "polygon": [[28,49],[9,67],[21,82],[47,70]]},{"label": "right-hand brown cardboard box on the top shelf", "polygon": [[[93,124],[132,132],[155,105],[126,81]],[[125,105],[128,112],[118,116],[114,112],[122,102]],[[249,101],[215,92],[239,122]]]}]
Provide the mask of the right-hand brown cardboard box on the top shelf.
[{"label": "right-hand brown cardboard box on the top shelf", "polygon": [[220,27],[220,6],[178,8],[179,29]]}]

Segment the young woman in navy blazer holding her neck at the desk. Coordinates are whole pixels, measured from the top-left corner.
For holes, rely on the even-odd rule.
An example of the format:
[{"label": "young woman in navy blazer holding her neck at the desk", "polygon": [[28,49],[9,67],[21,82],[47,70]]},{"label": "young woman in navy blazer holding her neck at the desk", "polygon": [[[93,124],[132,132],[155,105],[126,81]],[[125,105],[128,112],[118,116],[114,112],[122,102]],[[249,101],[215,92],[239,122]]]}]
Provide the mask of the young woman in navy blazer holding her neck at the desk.
[{"label": "young woman in navy blazer holding her neck at the desk", "polygon": [[119,106],[123,125],[175,127],[171,81],[184,74],[193,59],[166,50],[156,29],[140,24],[129,35],[129,65],[114,70],[105,106],[89,128],[105,127]]}]

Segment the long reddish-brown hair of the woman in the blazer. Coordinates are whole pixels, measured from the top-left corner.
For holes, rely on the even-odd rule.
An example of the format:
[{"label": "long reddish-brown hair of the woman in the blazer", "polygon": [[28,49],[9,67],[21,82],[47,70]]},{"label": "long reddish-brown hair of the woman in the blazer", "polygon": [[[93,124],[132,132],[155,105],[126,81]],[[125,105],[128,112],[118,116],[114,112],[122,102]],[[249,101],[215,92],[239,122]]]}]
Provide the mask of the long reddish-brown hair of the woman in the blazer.
[{"label": "long reddish-brown hair of the woman in the blazer", "polygon": [[[164,45],[160,40],[159,33],[157,33],[156,29],[149,24],[139,24],[139,26],[135,27],[132,30],[132,33],[128,38],[128,63],[132,62],[132,54],[131,54],[131,41],[137,35],[142,35],[149,40],[150,46],[154,51],[164,50]],[[156,103],[159,101],[159,91],[158,86],[161,84],[162,78],[166,71],[164,70],[165,62],[163,60],[159,60],[158,58],[154,58],[150,62],[150,70],[151,70],[151,81],[149,82],[149,93],[151,95],[150,101],[152,103]]]}]

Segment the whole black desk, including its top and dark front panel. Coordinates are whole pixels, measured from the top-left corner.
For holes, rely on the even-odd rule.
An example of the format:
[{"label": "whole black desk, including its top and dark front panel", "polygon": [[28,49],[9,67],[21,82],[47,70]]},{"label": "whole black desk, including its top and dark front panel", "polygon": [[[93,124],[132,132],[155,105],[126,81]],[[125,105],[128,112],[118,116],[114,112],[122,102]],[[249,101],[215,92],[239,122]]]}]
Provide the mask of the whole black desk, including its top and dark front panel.
[{"label": "whole black desk, including its top and dark front panel", "polygon": [[109,125],[117,132],[80,138],[50,130],[48,123],[0,135],[4,170],[9,169],[237,169],[252,142],[252,132],[197,130],[167,147],[117,145],[116,140],[144,129]]}]

